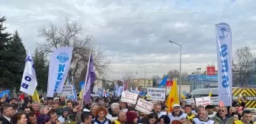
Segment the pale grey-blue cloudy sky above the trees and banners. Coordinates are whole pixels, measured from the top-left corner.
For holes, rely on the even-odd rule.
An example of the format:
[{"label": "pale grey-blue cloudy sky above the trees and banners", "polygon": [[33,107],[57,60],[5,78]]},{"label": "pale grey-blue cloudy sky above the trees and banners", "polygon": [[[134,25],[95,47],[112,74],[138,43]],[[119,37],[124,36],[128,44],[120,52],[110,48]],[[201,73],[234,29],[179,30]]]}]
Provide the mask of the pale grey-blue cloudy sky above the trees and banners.
[{"label": "pale grey-blue cloudy sky above the trees and banners", "polygon": [[256,50],[255,8],[255,0],[1,0],[0,13],[32,50],[43,42],[37,29],[50,21],[82,23],[112,60],[109,79],[121,79],[143,77],[139,67],[147,78],[179,70],[179,47],[168,40],[182,45],[182,72],[216,65],[216,23],[231,26],[232,51]]}]

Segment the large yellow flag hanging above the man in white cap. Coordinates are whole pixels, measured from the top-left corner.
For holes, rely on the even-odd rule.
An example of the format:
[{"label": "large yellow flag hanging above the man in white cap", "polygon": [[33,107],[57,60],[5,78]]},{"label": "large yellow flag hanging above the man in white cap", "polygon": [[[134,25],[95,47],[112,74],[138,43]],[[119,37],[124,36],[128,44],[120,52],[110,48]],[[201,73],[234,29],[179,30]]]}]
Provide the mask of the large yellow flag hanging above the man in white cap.
[{"label": "large yellow flag hanging above the man in white cap", "polygon": [[177,79],[175,78],[173,81],[173,85],[171,87],[171,91],[168,95],[166,106],[168,107],[168,113],[173,110],[174,104],[180,104],[179,97],[178,97],[178,86],[177,86]]}]

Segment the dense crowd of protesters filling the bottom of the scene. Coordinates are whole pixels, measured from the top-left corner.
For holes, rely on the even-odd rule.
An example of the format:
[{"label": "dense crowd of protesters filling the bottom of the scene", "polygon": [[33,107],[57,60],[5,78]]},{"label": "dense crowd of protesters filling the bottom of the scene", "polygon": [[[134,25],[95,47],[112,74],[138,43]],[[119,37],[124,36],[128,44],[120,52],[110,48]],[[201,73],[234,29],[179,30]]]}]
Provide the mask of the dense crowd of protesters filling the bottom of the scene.
[{"label": "dense crowd of protesters filling the bottom of the scene", "polygon": [[196,106],[181,101],[171,113],[165,101],[154,105],[152,113],[142,113],[135,105],[119,98],[91,98],[89,104],[65,97],[33,101],[30,97],[1,98],[0,124],[253,124],[254,111],[245,104],[233,102],[232,107]]}]

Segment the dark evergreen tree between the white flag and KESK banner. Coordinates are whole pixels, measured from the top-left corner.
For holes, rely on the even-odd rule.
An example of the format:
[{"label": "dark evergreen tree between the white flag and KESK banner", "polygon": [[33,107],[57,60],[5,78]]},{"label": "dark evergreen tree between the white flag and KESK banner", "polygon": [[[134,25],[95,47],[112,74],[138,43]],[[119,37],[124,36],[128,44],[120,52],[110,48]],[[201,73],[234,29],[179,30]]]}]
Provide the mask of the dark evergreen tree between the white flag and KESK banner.
[{"label": "dark evergreen tree between the white flag and KESK banner", "polygon": [[34,66],[37,73],[37,89],[47,90],[48,68],[46,66],[46,58],[43,52],[36,48],[34,52]]}]

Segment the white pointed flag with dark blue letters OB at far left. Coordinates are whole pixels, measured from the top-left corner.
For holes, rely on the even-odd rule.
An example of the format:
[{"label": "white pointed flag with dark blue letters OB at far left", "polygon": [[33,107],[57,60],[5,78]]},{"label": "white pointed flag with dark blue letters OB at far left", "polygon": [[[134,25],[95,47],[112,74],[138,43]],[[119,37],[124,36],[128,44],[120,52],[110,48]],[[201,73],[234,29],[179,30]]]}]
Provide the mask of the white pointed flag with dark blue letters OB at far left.
[{"label": "white pointed flag with dark blue letters OB at far left", "polygon": [[23,91],[27,95],[34,95],[34,91],[37,88],[37,76],[34,69],[34,61],[30,50],[27,52],[24,73],[21,80],[20,91]]}]

